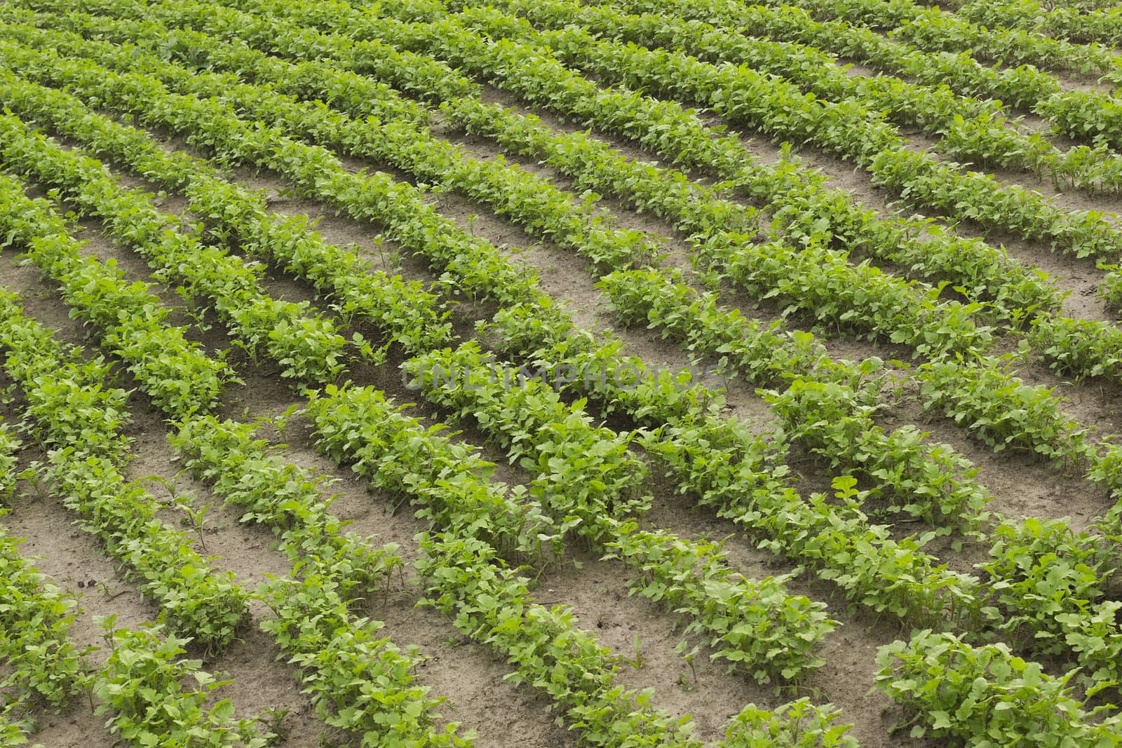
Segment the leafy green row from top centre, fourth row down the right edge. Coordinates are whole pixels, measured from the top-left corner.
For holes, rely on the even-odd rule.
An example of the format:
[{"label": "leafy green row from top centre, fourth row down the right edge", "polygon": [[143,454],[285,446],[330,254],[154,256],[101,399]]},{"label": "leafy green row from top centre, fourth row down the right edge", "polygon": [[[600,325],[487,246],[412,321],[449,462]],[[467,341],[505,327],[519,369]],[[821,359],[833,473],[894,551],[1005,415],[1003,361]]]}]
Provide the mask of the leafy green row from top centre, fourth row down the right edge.
[{"label": "leafy green row from top centre, fourth row down the right edge", "polygon": [[[449,4],[456,9],[469,8],[462,2]],[[813,47],[751,39],[701,21],[655,13],[626,15],[607,6],[569,2],[531,6],[518,0],[500,7],[539,28],[562,30],[579,26],[605,39],[681,49],[715,64],[746,65],[782,76],[828,101],[856,100],[866,109],[884,112],[900,127],[917,127],[937,136],[942,153],[983,168],[1029,169],[1050,178],[1057,190],[1068,186],[1088,193],[1122,190],[1122,159],[1105,148],[1088,146],[1061,151],[1039,133],[1021,132],[1001,114],[1000,104],[993,100],[966,99],[946,86],[910,84],[884,75],[852,76],[836,57]]]}]

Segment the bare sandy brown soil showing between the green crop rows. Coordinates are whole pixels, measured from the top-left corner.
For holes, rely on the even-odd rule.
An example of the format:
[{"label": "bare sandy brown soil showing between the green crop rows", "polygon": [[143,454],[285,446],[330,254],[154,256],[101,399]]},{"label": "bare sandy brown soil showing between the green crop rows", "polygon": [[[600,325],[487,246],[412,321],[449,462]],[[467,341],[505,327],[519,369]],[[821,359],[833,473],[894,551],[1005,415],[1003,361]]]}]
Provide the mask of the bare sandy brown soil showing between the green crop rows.
[{"label": "bare sandy brown soil showing between the green crop rows", "polygon": [[[867,72],[850,68],[852,74]],[[518,103],[494,89],[487,90],[487,99],[507,105]],[[555,117],[536,113],[550,124],[574,129]],[[716,124],[720,123],[717,118],[709,119]],[[763,161],[770,163],[778,158],[778,146],[766,138],[751,132],[742,135],[745,144]],[[494,144],[480,139],[460,136],[453,136],[453,139],[479,157],[490,158],[500,153]],[[618,139],[606,140],[628,156],[659,163],[656,157]],[[175,139],[167,139],[167,145],[182,147],[182,142]],[[885,215],[896,210],[891,195],[874,188],[867,177],[854,173],[850,165],[813,149],[803,149],[800,155],[807,165],[826,174],[834,186],[849,191],[870,207]],[[507,157],[517,160],[512,156]],[[349,168],[356,169],[371,166],[351,159],[346,159],[344,163]],[[374,166],[380,168],[380,165]],[[562,188],[571,186],[571,182],[549,167],[536,164],[524,166],[535,174],[550,177]],[[394,174],[399,178],[407,178],[407,175]],[[234,176],[255,187],[269,191],[273,209],[278,212],[319,218],[319,230],[325,238],[338,243],[357,244],[374,260],[376,267],[399,271],[408,278],[433,279],[433,275],[417,258],[402,252],[392,242],[380,241],[376,228],[338,216],[314,201],[287,195],[284,183],[275,175],[239,170]],[[1038,186],[1026,175],[1009,175],[1010,178],[1013,176],[1030,186]],[[139,179],[122,181],[134,186],[150,187]],[[162,200],[164,210],[168,212],[185,210],[186,203],[182,196],[168,195]],[[580,324],[594,329],[617,326],[603,295],[594,287],[597,278],[589,271],[587,261],[571,251],[537,241],[513,223],[494,216],[485,206],[460,195],[443,193],[434,195],[433,200],[443,215],[465,228],[470,227],[477,236],[487,238],[496,246],[508,249],[512,261],[535,269],[542,278],[543,288],[568,303]],[[1088,200],[1069,193],[1059,195],[1059,202],[1072,209],[1116,207],[1112,201]],[[611,198],[601,200],[599,206],[615,214],[622,225],[665,237],[670,251],[666,265],[683,269],[689,267],[689,246],[682,237],[674,236],[664,222],[625,210],[619,201]],[[148,276],[147,267],[136,255],[107,241],[98,233],[94,223],[84,224],[89,227],[83,232],[83,237],[90,239],[88,251],[102,258],[116,259],[131,278]],[[962,230],[969,232],[968,227]],[[995,239],[1004,241],[1013,256],[1034,262],[1056,275],[1060,287],[1073,292],[1068,301],[1070,313],[1092,318],[1110,318],[1110,312],[1084,293],[1101,277],[1093,265],[1056,256],[1047,247],[1031,242]],[[63,338],[74,342],[84,341],[83,331],[67,317],[54,288],[42,283],[33,268],[17,266],[11,252],[0,257],[0,283],[21,292],[28,313],[57,330]],[[285,276],[276,268],[272,269],[266,286],[277,297],[309,299],[321,308],[330,307],[330,302],[318,298],[306,284]],[[181,303],[174,290],[160,287],[154,290],[160,294],[168,306]],[[749,316],[776,316],[776,311],[767,304],[738,295],[734,289],[727,292],[725,301]],[[462,335],[470,334],[471,323],[493,312],[494,308],[488,305],[459,306],[456,311],[457,331]],[[177,324],[187,323],[190,318],[177,312],[173,321]],[[229,348],[229,340],[222,333],[221,325],[213,320],[210,322],[212,325],[209,331],[193,329],[190,334],[210,350]],[[795,326],[798,323],[799,320],[794,320]],[[625,342],[628,352],[650,363],[682,366],[689,361],[686,353],[646,331],[616,330],[616,334]],[[826,342],[830,352],[838,357],[859,359],[875,354],[893,358],[901,354],[895,349],[877,348],[844,336]],[[1011,343],[1006,341],[1003,344]],[[223,403],[226,415],[241,418],[272,416],[296,401],[269,364],[255,368],[237,351],[231,352],[231,360],[238,366],[239,375],[246,384],[233,387],[228,393]],[[402,403],[415,403],[415,394],[401,385],[399,375],[394,369],[396,363],[399,363],[399,359],[392,360],[381,368],[359,366],[350,372],[350,377],[360,384],[385,389]],[[1116,386],[1102,382],[1068,385],[1039,363],[1026,364],[1019,373],[1032,384],[1055,386],[1057,394],[1069,399],[1067,410],[1070,415],[1094,426],[1096,434],[1122,431],[1122,406],[1118,405],[1122,401],[1119,398],[1122,393]],[[131,385],[126,382],[125,386]],[[732,413],[754,418],[761,426],[767,423],[770,415],[754,388],[734,381],[729,385],[727,398]],[[18,418],[17,406],[18,403],[6,406],[2,413],[6,421]],[[268,574],[286,574],[289,564],[276,551],[275,538],[267,530],[239,523],[236,509],[222,508],[221,502],[205,486],[177,473],[175,455],[166,444],[166,426],[158,414],[148,407],[142,395],[132,396],[132,413],[135,422],[129,435],[134,440],[135,456],[129,464],[129,477],[139,479],[159,475],[174,479],[178,495],[190,497],[195,506],[210,505],[205,529],[199,538],[199,548],[218,556],[215,565],[231,570],[247,588],[251,589]],[[434,408],[424,404],[419,404],[417,414],[440,417]],[[1014,517],[1072,516],[1073,524],[1083,527],[1104,508],[1105,499],[1078,478],[1061,475],[1054,468],[1024,456],[994,454],[972,441],[962,428],[946,419],[931,418],[914,397],[885,409],[880,416],[880,423],[886,428],[919,424],[931,432],[932,440],[954,445],[978,467],[980,480],[993,495],[991,506],[1003,514]],[[398,544],[407,564],[416,557],[419,550],[414,536],[424,527],[412,516],[407,506],[399,506],[399,500],[394,497],[368,491],[364,482],[357,480],[349,470],[335,468],[320,456],[314,450],[314,435],[307,424],[296,421],[283,436],[276,433],[270,436],[285,443],[282,453],[286,460],[337,479],[331,489],[340,495],[333,505],[334,510],[352,523],[351,529],[370,536],[376,543]],[[482,435],[470,425],[462,428],[460,437],[473,444],[484,442]],[[494,450],[484,445],[484,452],[500,463],[500,479],[512,483],[530,480],[531,477],[519,469],[502,464],[505,460]],[[34,447],[22,456],[25,461],[37,459]],[[792,463],[803,475],[800,484],[802,488],[828,488],[829,472],[824,465],[816,464],[798,452],[793,453]],[[735,567],[747,576],[758,578],[791,571],[785,562],[756,550],[729,523],[717,519],[707,510],[697,510],[688,497],[674,495],[657,474],[652,477],[650,488],[655,502],[646,521],[652,526],[669,528],[691,538],[728,538],[725,547]],[[136,588],[122,580],[112,564],[100,554],[92,538],[73,526],[72,515],[56,498],[39,496],[30,486],[22,489],[15,510],[4,521],[15,535],[27,538],[25,553],[35,556],[38,566],[53,581],[80,595],[82,612],[74,627],[74,636],[80,643],[100,644],[101,632],[95,624],[99,616],[116,613],[121,625],[134,626],[151,620],[157,615],[155,606],[141,599]],[[160,483],[151,482],[149,490],[158,498],[171,498]],[[164,512],[164,518],[175,524],[182,515],[168,509]],[[903,528],[902,532],[911,530]],[[944,557],[954,567],[968,571],[971,563],[977,560],[977,548],[967,548],[962,553],[948,548],[945,550]],[[93,591],[90,582],[93,582]],[[79,587],[80,583],[82,587]],[[847,611],[844,600],[827,584],[800,578],[791,582],[791,588],[828,603],[830,616],[840,624],[824,646],[827,665],[808,678],[801,693],[838,704],[844,711],[844,719],[854,724],[854,735],[863,746],[941,745],[938,741],[913,740],[903,736],[890,737],[888,728],[899,714],[885,699],[868,695],[875,672],[873,657],[876,647],[907,636],[907,631],[889,621],[873,620],[859,611]],[[605,645],[631,661],[622,665],[620,682],[635,687],[655,687],[655,703],[672,714],[693,714],[696,732],[705,740],[719,739],[725,721],[747,702],[773,708],[791,698],[790,694],[776,694],[771,686],[761,686],[726,673],[723,666],[709,661],[710,650],[696,636],[687,637],[691,646],[699,646],[700,652],[693,668],[690,668],[674,652],[683,636],[681,621],[652,603],[629,597],[626,578],[613,562],[600,561],[574,550],[567,563],[542,579],[536,594],[544,604],[571,606],[586,628],[594,630]],[[419,669],[417,677],[431,686],[434,694],[449,700],[443,709],[447,719],[476,730],[479,746],[552,748],[576,745],[577,736],[554,722],[555,714],[546,700],[528,687],[514,686],[504,680],[512,672],[506,663],[489,649],[463,639],[451,622],[439,613],[417,608],[419,598],[416,581],[406,578],[386,597],[367,601],[366,611],[385,622],[386,634],[399,646],[417,645],[425,654],[426,661]],[[240,714],[286,710],[286,717],[282,721],[287,735],[284,745],[344,745],[342,736],[327,730],[315,718],[309,701],[298,692],[293,669],[283,658],[278,659],[278,649],[257,628],[261,617],[268,615],[267,610],[257,603],[252,613],[254,619],[246,627],[242,639],[208,664],[215,671],[228,672],[234,680],[226,690],[226,695],[232,699]],[[94,655],[95,661],[98,656]],[[48,746],[89,745],[100,748],[113,745],[112,738],[100,728],[100,719],[94,718],[84,703],[73,703],[62,714],[44,715],[40,722],[42,732],[37,739]]]}]

